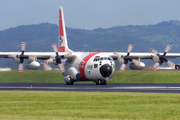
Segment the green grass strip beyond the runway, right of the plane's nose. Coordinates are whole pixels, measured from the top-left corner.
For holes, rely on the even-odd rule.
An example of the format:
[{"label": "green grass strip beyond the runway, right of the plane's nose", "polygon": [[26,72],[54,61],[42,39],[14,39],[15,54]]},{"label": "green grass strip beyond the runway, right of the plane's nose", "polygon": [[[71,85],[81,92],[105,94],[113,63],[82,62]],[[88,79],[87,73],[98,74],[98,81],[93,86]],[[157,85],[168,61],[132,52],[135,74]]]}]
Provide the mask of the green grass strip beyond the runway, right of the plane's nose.
[{"label": "green grass strip beyond the runway, right of the plane's nose", "polygon": [[110,83],[180,83],[180,71],[116,71]]}]

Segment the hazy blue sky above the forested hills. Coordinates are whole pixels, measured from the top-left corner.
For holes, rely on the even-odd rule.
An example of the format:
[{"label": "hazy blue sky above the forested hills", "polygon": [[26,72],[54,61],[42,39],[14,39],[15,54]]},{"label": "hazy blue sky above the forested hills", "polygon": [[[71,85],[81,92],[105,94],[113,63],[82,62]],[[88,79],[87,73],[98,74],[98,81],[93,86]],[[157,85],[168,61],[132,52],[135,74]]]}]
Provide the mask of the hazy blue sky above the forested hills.
[{"label": "hazy blue sky above the forested hills", "polygon": [[93,30],[180,21],[180,0],[0,0],[0,31],[20,25],[58,25],[63,6],[66,27]]}]

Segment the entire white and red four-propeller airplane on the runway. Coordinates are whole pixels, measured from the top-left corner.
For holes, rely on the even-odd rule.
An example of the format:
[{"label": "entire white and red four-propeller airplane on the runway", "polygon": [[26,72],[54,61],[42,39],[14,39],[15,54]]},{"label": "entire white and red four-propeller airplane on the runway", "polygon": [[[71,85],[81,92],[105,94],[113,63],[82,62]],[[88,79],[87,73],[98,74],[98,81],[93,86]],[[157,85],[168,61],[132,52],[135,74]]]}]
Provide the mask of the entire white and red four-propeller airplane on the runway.
[{"label": "entire white and red four-propeller airplane on the runway", "polygon": [[150,53],[131,53],[133,45],[128,46],[127,52],[74,52],[69,49],[64,14],[62,6],[59,6],[59,37],[58,48],[52,45],[54,52],[25,52],[26,43],[21,43],[21,52],[0,52],[0,58],[13,58],[18,64],[18,71],[23,71],[24,59],[29,59],[25,65],[27,69],[38,69],[40,63],[37,61],[45,60],[45,69],[49,63],[58,66],[64,77],[66,85],[73,85],[78,81],[93,81],[96,85],[106,85],[107,81],[115,72],[115,60],[122,64],[120,71],[123,72],[128,62],[132,70],[142,70],[145,64],[141,59],[152,59],[155,62],[153,69],[156,70],[163,62],[171,68],[175,64],[167,58],[180,57],[180,53],[168,53],[172,48],[167,45],[164,53],[158,53],[151,49]]}]

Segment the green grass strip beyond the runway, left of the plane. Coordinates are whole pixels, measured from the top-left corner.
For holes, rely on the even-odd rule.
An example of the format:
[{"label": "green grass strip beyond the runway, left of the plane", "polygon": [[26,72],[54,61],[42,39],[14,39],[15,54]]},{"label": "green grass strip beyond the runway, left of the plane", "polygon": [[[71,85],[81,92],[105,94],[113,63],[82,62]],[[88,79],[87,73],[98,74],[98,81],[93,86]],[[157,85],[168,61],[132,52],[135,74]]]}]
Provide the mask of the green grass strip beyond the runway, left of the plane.
[{"label": "green grass strip beyond the runway, left of the plane", "polygon": [[0,72],[1,83],[11,82],[36,82],[36,83],[58,83],[64,82],[63,76],[59,71],[7,71]]}]

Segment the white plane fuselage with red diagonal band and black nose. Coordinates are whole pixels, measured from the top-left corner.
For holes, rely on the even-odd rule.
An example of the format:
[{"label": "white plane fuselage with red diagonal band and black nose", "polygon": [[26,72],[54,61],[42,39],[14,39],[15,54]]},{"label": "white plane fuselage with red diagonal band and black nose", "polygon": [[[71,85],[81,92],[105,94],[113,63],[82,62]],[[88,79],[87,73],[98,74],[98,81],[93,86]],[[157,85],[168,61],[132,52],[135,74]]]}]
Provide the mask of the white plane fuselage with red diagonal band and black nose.
[{"label": "white plane fuselage with red diagonal band and black nose", "polygon": [[[107,54],[101,52],[77,52],[76,58],[64,59],[64,77],[70,77],[76,81],[108,80],[115,71],[115,62]],[[107,69],[107,70],[106,70]]]}]

